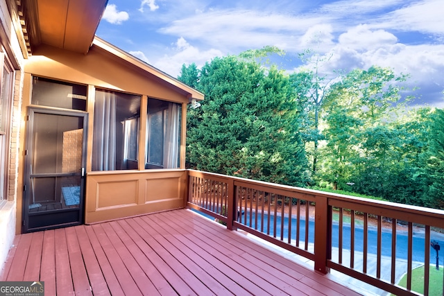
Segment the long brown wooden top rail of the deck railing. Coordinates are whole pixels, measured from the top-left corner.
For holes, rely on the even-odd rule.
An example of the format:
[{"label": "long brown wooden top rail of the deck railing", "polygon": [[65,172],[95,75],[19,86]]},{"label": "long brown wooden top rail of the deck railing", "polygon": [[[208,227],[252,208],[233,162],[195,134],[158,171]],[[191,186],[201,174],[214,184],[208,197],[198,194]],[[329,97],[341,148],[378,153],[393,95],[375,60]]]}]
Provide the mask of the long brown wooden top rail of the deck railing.
[{"label": "long brown wooden top rail of the deck railing", "polygon": [[[355,196],[350,195],[343,195],[339,193],[329,193],[325,191],[318,191],[314,189],[305,189],[295,186],[288,186],[288,185],[282,185],[282,184],[275,184],[271,182],[264,182],[264,181],[257,181],[257,180],[250,180],[242,177],[234,177],[234,176],[228,176],[228,175],[221,175],[218,173],[209,173],[209,172],[203,172],[203,171],[196,171],[196,170],[187,170],[189,172],[189,175],[194,176],[213,176],[222,178],[224,180],[234,180],[234,184],[237,184],[239,186],[248,186],[248,184],[255,185],[255,186],[262,186],[264,187],[264,191],[266,189],[280,189],[284,191],[289,191],[291,193],[300,193],[303,195],[314,195],[316,198],[327,198],[330,200],[330,204],[334,205],[335,201],[338,202],[352,202],[354,204],[360,204],[363,207],[378,207],[381,210],[389,210],[389,211],[402,211],[407,214],[417,214],[417,215],[425,215],[430,216],[434,218],[444,219],[444,210],[440,209],[432,209],[432,208],[426,208],[426,207],[418,207],[413,206],[409,204],[399,204],[396,202],[387,202],[384,200],[372,200],[368,198],[359,198]],[[301,197],[302,198],[302,197]],[[384,215],[383,213],[381,214]]]}]

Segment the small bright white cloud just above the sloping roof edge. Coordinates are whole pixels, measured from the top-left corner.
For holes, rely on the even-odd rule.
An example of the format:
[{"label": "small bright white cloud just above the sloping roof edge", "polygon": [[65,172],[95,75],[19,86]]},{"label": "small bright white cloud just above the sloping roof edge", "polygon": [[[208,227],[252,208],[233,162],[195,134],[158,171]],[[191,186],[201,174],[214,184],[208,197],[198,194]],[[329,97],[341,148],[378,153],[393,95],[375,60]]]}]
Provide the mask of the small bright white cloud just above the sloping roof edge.
[{"label": "small bright white cloud just above the sloping roof edge", "polygon": [[153,66],[173,77],[177,77],[180,74],[182,64],[191,64],[194,62],[198,67],[202,67],[205,62],[212,58],[223,55],[218,49],[200,50],[196,46],[189,44],[185,38],[180,37],[177,42],[173,44],[173,49],[162,57],[157,58],[157,60],[153,62]]}]

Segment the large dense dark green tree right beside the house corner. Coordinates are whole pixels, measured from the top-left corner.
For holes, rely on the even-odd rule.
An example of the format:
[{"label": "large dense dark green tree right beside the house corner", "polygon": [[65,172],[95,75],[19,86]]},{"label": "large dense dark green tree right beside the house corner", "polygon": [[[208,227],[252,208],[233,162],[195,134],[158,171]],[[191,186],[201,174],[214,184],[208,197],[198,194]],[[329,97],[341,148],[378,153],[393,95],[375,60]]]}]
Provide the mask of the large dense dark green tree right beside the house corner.
[{"label": "large dense dark green tree right beside the house corner", "polygon": [[[180,78],[185,73],[187,67]],[[288,76],[231,55],[207,62],[192,81],[205,101],[189,109],[188,167],[305,186],[307,159]]]}]

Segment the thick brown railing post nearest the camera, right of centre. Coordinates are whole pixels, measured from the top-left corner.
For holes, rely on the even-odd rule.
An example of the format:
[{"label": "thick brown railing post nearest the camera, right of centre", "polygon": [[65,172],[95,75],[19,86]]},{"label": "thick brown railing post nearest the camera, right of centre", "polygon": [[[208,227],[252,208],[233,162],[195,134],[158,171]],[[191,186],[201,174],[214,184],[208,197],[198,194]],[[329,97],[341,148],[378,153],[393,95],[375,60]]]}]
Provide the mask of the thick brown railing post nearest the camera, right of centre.
[{"label": "thick brown railing post nearest the camera, right of centre", "polygon": [[331,211],[328,207],[328,198],[316,195],[315,223],[314,223],[314,269],[318,272],[328,273],[327,259],[331,254]]}]

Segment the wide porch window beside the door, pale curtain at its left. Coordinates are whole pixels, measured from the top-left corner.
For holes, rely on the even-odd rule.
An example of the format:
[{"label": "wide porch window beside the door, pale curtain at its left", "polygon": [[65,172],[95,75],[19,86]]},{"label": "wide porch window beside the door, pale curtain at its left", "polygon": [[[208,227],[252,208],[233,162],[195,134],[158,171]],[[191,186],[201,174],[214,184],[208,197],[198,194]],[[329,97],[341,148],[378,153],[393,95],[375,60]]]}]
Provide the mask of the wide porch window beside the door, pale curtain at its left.
[{"label": "wide porch window beside the door, pale curtain at its left", "polygon": [[[96,90],[94,103],[93,171],[117,171],[137,168],[139,128],[131,127],[139,118],[140,96]],[[134,130],[137,130],[135,134]],[[133,148],[131,148],[133,147]],[[131,155],[135,158],[129,160]]]}]

